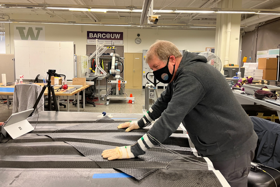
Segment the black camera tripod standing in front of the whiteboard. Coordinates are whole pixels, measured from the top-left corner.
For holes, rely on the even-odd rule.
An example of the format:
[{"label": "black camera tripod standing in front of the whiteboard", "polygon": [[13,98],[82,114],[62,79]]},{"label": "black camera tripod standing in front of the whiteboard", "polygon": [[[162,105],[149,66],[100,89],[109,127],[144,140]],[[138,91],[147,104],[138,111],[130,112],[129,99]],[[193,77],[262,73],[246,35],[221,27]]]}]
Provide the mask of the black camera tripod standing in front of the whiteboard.
[{"label": "black camera tripod standing in front of the whiteboard", "polygon": [[51,111],[51,107],[52,107],[52,101],[51,101],[51,95],[53,96],[53,100],[54,100],[54,109],[56,112],[58,112],[58,105],[57,105],[57,101],[56,101],[56,97],[55,97],[55,93],[54,93],[54,87],[51,86],[51,76],[54,76],[54,75],[58,75],[55,73],[56,70],[49,70],[47,72],[47,74],[49,75],[49,79],[47,80],[47,85],[44,85],[43,86],[43,89],[41,91],[41,93],[39,94],[39,97],[37,98],[34,106],[33,106],[33,112],[29,115],[32,116],[32,114],[34,113],[38,103],[40,102],[40,99],[42,98],[42,96],[44,95],[44,92],[46,90],[46,88],[48,88],[48,111]]}]

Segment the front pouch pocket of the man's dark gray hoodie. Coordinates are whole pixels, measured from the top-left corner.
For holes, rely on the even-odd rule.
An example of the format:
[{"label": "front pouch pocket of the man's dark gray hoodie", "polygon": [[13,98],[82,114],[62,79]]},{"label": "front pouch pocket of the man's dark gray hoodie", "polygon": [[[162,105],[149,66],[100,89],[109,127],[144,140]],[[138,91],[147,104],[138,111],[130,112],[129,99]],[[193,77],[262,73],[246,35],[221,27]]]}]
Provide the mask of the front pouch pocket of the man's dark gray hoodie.
[{"label": "front pouch pocket of the man's dark gray hoodie", "polygon": [[196,136],[196,135],[189,134],[189,137],[190,137],[191,141],[194,143],[194,146],[197,149],[197,151],[203,155],[215,155],[217,153],[222,152],[220,150],[218,143],[205,144],[205,143],[202,143],[199,140],[198,136]]}]

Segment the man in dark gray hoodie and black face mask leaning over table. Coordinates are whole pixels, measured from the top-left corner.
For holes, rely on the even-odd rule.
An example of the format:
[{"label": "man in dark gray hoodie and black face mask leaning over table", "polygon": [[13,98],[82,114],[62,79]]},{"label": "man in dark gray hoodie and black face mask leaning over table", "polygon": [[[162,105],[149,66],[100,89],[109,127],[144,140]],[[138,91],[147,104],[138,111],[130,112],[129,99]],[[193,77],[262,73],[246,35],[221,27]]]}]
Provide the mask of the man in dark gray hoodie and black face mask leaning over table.
[{"label": "man in dark gray hoodie and black face mask leaning over table", "polygon": [[113,160],[143,155],[182,122],[197,151],[212,161],[231,187],[247,187],[258,137],[224,76],[204,56],[190,52],[182,56],[169,41],[156,41],[146,62],[157,80],[169,84],[142,119],[118,128],[128,127],[128,132],[158,120],[134,145],[105,150],[102,156]]}]

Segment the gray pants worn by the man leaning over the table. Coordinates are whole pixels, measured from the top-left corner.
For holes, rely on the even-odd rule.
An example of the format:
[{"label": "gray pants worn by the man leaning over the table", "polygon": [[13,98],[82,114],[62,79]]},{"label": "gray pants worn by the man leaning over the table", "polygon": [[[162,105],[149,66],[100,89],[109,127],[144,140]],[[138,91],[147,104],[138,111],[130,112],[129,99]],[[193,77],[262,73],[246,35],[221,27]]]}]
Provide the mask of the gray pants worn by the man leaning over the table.
[{"label": "gray pants worn by the man leaning over the table", "polygon": [[254,151],[255,149],[236,159],[212,163],[231,187],[247,187],[247,177],[251,168],[251,161],[254,158]]}]

